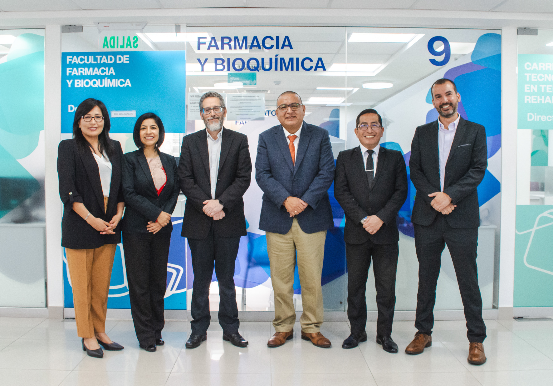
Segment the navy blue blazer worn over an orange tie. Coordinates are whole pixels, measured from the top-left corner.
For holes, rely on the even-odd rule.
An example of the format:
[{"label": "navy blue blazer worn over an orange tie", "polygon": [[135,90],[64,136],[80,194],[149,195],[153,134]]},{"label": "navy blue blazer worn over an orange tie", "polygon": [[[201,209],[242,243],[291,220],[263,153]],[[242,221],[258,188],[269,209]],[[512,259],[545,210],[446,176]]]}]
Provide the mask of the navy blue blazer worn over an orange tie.
[{"label": "navy blue blazer worn over an orange tie", "polygon": [[288,233],[293,218],[283,202],[290,195],[308,204],[296,215],[301,230],[315,233],[332,228],[328,188],[334,179],[334,156],[328,131],[304,122],[294,164],[283,130],[278,125],[259,135],[255,159],[255,181],[263,191],[259,229]]}]

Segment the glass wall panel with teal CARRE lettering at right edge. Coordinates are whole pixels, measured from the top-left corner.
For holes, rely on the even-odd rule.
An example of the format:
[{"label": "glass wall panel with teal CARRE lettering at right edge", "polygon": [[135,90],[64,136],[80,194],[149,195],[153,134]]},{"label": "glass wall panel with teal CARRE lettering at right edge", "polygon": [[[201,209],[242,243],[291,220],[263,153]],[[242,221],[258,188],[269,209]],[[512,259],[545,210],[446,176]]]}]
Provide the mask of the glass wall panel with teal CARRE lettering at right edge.
[{"label": "glass wall panel with teal CARRE lettering at right edge", "polygon": [[553,306],[553,30],[518,36],[515,307]]}]

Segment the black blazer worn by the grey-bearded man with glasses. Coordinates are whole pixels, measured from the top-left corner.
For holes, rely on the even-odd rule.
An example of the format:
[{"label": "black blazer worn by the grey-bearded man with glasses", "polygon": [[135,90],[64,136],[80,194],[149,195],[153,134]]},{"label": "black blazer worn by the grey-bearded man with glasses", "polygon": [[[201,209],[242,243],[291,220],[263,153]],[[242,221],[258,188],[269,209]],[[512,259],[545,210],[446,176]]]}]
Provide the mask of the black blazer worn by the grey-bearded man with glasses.
[{"label": "black blazer worn by the grey-bearded man with glasses", "polygon": [[181,236],[205,239],[211,224],[216,235],[221,237],[247,235],[242,196],[252,178],[248,137],[223,128],[221,141],[215,198],[223,203],[225,217],[214,221],[202,210],[203,202],[211,199],[207,132],[204,129],[182,138],[179,183],[182,193],[186,195],[186,206]]}]

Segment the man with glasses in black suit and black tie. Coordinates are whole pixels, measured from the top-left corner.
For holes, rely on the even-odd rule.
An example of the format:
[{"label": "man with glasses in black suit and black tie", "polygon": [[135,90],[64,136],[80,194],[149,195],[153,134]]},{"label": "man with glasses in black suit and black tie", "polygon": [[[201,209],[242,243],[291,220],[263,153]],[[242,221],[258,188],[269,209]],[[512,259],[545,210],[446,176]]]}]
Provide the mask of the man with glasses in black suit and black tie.
[{"label": "man with glasses in black suit and black tie", "polygon": [[336,160],[334,197],[346,213],[344,241],[348,269],[347,316],[351,334],[342,348],[367,341],[366,284],[373,261],[377,290],[377,336],[384,351],[398,352],[392,339],[399,232],[396,218],[407,198],[407,171],[401,152],[379,145],[382,117],[366,109],[357,116],[361,143]]}]

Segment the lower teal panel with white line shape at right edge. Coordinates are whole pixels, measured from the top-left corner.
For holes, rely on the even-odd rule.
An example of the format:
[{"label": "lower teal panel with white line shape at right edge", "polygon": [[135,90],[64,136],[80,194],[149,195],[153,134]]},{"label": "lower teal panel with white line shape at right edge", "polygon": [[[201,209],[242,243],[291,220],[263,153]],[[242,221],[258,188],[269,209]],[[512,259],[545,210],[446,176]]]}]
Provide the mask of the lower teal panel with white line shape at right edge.
[{"label": "lower teal panel with white line shape at right edge", "polygon": [[515,307],[553,306],[553,205],[517,205]]}]

